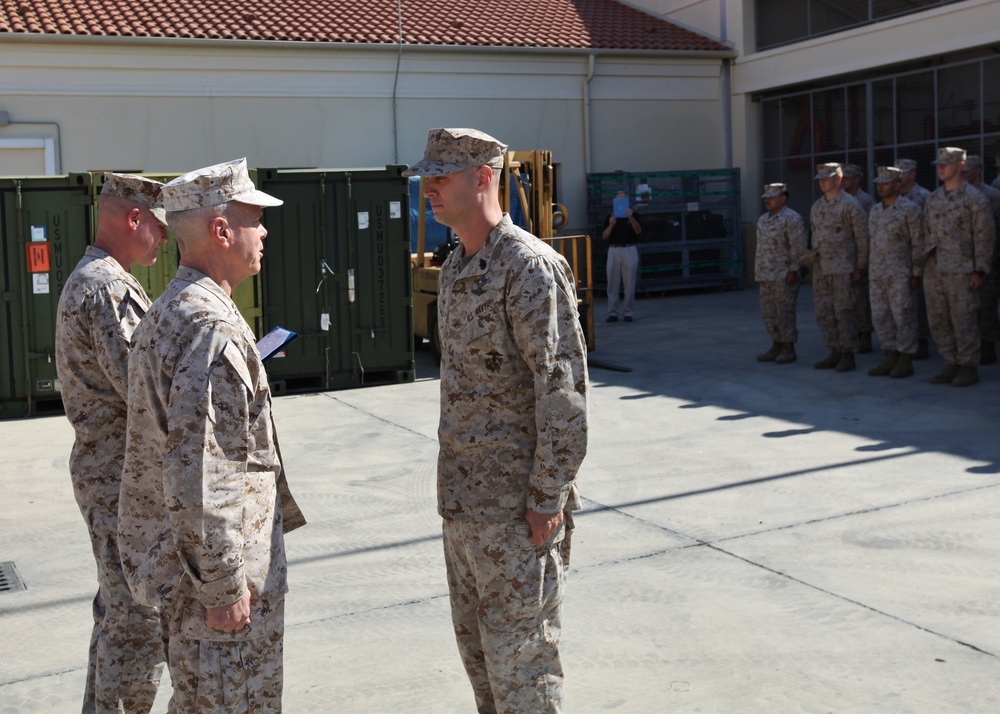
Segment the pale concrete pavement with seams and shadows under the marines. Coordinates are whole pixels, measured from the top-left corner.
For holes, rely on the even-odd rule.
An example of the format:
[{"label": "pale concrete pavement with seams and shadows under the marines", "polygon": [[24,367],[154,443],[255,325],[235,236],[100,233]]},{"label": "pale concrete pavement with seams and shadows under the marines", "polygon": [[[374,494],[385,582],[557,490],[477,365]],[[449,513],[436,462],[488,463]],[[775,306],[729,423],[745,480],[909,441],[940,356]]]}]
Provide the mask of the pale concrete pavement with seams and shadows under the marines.
[{"label": "pale concrete pavement with seams and shadows under the marines", "polygon": [[[934,386],[758,364],[757,294],[598,304],[566,711],[1000,711],[1000,366]],[[288,712],[473,711],[434,510],[437,380],[275,400]],[[0,422],[0,714],[79,711],[94,566],[62,416]],[[156,712],[166,711],[161,687]]]}]

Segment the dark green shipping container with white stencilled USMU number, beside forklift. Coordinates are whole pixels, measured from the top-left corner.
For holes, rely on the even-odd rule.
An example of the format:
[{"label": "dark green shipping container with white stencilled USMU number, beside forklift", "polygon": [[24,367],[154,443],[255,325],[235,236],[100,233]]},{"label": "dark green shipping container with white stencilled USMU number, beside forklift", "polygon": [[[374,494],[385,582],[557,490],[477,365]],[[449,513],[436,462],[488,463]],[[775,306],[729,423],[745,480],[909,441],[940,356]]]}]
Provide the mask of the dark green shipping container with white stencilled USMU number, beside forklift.
[{"label": "dark green shipping container with white stencilled USMU number, beside forklift", "polygon": [[276,393],[414,378],[410,221],[403,166],[258,169],[265,332],[299,334],[267,365]]}]

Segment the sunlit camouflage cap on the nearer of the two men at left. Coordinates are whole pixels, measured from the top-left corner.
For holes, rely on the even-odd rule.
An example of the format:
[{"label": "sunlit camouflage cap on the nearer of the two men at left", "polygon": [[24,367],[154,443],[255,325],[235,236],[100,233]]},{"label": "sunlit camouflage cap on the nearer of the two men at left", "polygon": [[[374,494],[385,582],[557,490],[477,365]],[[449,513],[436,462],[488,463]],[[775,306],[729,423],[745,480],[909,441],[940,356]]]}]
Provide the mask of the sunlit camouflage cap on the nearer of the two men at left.
[{"label": "sunlit camouflage cap on the nearer of the two men at left", "polygon": [[163,187],[163,206],[168,211],[187,211],[230,201],[252,206],[280,206],[284,203],[257,190],[247,172],[246,159],[189,171]]}]

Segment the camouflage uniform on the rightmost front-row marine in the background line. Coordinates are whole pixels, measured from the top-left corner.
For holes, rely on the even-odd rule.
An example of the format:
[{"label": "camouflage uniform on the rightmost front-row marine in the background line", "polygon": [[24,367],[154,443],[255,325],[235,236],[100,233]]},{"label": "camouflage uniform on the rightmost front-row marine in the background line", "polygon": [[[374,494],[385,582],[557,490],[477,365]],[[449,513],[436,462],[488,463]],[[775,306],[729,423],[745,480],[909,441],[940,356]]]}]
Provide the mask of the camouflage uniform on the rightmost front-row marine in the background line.
[{"label": "camouflage uniform on the rightmost front-row marine in the background line", "polygon": [[974,271],[989,271],[996,228],[986,197],[966,182],[938,188],[924,210],[927,247],[924,292],[931,334],[949,365],[978,366],[979,299],[969,286]]}]

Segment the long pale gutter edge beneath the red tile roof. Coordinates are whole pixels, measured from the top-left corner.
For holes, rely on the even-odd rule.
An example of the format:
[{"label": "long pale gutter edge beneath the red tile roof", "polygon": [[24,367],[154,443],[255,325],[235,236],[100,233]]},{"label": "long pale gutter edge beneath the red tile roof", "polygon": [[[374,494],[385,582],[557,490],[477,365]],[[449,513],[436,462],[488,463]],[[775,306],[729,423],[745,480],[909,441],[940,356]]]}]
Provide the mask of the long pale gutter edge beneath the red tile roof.
[{"label": "long pale gutter edge beneath the red tile roof", "polygon": [[[40,32],[0,32],[0,43],[25,42],[47,44],[50,42],[66,44],[96,44],[96,45],[139,45],[139,46],[176,46],[176,47],[268,47],[290,48],[298,50],[369,50],[399,52],[398,43],[376,42],[302,42],[301,40],[228,40],[200,37],[122,37],[108,35],[63,35]],[[466,52],[505,52],[512,54],[555,54],[555,55],[607,55],[623,57],[662,57],[672,59],[736,59],[739,53],[735,49],[728,50],[635,50],[616,49],[609,47],[512,47],[510,45],[421,45],[403,44],[404,52],[434,52],[442,50],[459,50]]]}]

